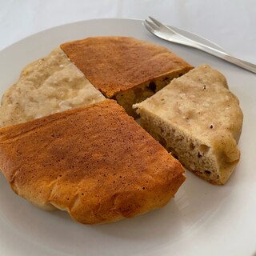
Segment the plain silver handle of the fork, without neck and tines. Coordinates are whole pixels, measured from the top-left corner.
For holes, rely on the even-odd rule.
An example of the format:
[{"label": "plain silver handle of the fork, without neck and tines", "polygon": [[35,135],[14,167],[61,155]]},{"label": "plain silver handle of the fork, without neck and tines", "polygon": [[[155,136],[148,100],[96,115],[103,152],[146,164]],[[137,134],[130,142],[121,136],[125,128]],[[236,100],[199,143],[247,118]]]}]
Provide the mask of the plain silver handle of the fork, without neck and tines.
[{"label": "plain silver handle of the fork, without neck and tines", "polygon": [[197,48],[198,50],[205,51],[207,54],[211,54],[211,55],[217,56],[218,58],[222,58],[226,62],[230,62],[236,66],[240,66],[243,69],[249,70],[250,72],[253,72],[254,74],[256,74],[256,65],[253,63],[243,61],[242,59],[239,59],[239,58],[235,58],[230,54],[223,52],[222,50],[217,50],[210,46],[203,45],[201,43],[194,44],[193,47]]}]

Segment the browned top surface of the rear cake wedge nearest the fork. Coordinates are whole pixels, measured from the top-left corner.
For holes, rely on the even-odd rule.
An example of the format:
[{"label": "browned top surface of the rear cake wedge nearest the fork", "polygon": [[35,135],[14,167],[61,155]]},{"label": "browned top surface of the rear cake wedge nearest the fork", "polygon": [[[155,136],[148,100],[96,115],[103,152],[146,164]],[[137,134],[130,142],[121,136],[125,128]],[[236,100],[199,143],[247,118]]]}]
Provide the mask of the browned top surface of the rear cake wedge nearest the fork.
[{"label": "browned top surface of the rear cake wedge nearest the fork", "polygon": [[61,48],[109,98],[154,78],[178,71],[184,73],[192,68],[165,47],[134,38],[86,38],[66,42]]}]

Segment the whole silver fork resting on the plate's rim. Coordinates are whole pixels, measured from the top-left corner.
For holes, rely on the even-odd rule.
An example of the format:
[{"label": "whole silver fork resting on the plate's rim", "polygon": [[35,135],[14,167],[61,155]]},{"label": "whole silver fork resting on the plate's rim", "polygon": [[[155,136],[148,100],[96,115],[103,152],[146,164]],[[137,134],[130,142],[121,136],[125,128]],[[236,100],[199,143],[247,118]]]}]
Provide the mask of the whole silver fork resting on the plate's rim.
[{"label": "whole silver fork resting on the plate's rim", "polygon": [[186,36],[179,34],[170,26],[166,26],[161,22],[158,22],[155,18],[149,17],[150,20],[145,20],[142,22],[150,33],[156,35],[158,38],[162,38],[169,42],[175,42],[182,44],[184,46],[190,46],[198,50],[202,50],[207,54],[214,55],[218,58],[222,58],[226,62],[230,62],[236,66],[240,66],[245,70],[249,70],[256,74],[256,65],[250,62],[243,61],[242,59],[235,58],[234,56],[228,54],[225,50],[216,49],[211,46],[206,46],[201,42],[196,42],[193,39],[187,38]]}]

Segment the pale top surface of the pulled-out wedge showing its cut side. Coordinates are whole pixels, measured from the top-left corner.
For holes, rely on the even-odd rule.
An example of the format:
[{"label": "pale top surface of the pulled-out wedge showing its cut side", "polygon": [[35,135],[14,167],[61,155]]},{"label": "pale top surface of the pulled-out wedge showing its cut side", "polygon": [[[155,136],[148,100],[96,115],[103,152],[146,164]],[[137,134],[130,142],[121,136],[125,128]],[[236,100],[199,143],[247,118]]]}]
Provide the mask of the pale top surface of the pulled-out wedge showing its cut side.
[{"label": "pale top surface of the pulled-out wedge showing its cut side", "polygon": [[226,78],[208,65],[174,79],[134,107],[212,145],[224,137],[238,142],[242,130],[238,98],[228,89]]}]

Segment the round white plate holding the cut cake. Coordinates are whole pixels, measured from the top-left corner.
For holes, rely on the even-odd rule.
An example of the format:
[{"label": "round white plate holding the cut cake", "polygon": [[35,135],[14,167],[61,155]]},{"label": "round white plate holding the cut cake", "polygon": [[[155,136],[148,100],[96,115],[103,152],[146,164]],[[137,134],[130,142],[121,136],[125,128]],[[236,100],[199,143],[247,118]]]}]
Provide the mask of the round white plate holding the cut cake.
[{"label": "round white plate holding the cut cake", "polygon": [[[46,212],[19,198],[0,174],[0,255],[253,255],[256,252],[256,77],[217,58],[149,34],[141,21],[104,19],[58,26],[0,52],[0,94],[22,67],[61,42],[123,35],[155,42],[197,66],[221,70],[244,113],[242,158],[226,186],[186,172],[176,197],[161,210],[122,222],[84,226],[61,211]],[[214,110],[213,110],[214,111]]]}]

